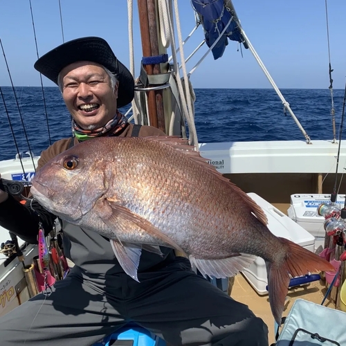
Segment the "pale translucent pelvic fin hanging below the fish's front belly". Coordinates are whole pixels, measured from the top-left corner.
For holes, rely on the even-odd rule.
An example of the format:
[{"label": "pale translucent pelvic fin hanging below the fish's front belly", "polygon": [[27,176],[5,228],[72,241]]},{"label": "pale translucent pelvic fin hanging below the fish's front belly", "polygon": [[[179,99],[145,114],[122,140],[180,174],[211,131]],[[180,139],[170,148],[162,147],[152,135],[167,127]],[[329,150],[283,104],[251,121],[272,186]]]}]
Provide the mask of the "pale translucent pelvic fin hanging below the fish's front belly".
[{"label": "pale translucent pelvic fin hanging below the fish's front belly", "polygon": [[120,244],[114,239],[109,239],[109,242],[111,243],[111,248],[113,248],[116,259],[119,261],[122,269],[124,269],[127,275],[139,282],[137,277],[137,269],[142,248],[138,245],[132,246],[132,244],[127,243]]}]

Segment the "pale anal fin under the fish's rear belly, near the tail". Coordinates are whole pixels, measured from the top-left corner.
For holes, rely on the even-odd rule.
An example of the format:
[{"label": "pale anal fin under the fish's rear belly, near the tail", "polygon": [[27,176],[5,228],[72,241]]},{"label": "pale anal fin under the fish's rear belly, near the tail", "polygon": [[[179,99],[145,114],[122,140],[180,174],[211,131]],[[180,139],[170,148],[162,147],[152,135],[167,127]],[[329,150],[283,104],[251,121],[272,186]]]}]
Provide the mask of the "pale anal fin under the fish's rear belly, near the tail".
[{"label": "pale anal fin under the fish's rear belly, near the tail", "polygon": [[217,279],[236,275],[239,271],[250,266],[255,259],[256,256],[241,255],[240,253],[221,260],[202,260],[190,255],[190,262],[198,268],[204,277],[208,275]]}]

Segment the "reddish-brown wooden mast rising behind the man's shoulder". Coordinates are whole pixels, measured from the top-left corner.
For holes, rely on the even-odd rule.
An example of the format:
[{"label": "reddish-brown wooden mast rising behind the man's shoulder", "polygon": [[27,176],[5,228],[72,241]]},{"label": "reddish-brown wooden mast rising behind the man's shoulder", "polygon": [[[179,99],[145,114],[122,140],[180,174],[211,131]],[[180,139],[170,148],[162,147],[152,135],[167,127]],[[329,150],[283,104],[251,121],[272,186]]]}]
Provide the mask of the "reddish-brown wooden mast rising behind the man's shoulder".
[{"label": "reddish-brown wooden mast rising behind the man's shoulder", "polygon": [[[140,36],[144,57],[159,55],[158,26],[156,22],[156,0],[138,0]],[[148,75],[161,73],[160,64],[145,65]],[[147,91],[150,125],[165,132],[163,91]]]}]

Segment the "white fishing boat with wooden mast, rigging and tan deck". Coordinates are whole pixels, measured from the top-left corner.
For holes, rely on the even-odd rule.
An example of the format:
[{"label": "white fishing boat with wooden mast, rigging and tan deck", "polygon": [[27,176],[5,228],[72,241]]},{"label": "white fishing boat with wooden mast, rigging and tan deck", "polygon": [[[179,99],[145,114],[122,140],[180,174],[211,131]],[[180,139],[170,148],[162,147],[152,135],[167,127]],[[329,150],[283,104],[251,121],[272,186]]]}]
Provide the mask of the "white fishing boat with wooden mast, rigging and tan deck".
[{"label": "white fishing boat with wooden mast, rigging and tan deck", "polygon": [[[330,140],[310,138],[247,37],[232,1],[192,0],[191,6],[196,18],[193,23],[195,26],[183,40],[178,1],[138,1],[143,60],[140,74],[136,75],[134,55],[130,54],[129,66],[136,79],[136,98],[128,112],[129,121],[158,127],[169,135],[189,138],[190,144],[199,150],[201,156],[208,158],[210,165],[214,165],[219,172],[259,203],[273,225],[269,225],[271,230],[275,226],[279,227],[284,236],[291,239],[295,237],[302,246],[320,253],[326,248],[325,218],[318,215],[317,208],[322,202],[330,202],[331,193],[336,192],[336,179],[340,181],[338,190],[346,190],[346,184],[341,179],[345,168],[338,164],[345,162],[346,144],[336,134],[333,116],[334,131]],[[133,8],[129,5],[130,47],[134,46],[132,11]],[[201,33],[201,30],[201,44],[186,58],[184,48],[188,39],[191,35]],[[278,100],[281,100],[284,111],[300,129],[302,140],[199,142],[194,123],[194,89],[190,77],[206,55],[211,54],[215,60],[219,59],[227,49],[228,42],[242,46],[246,53],[252,53],[277,93]],[[188,73],[186,63],[201,49],[204,49],[201,60]],[[330,89],[332,97],[332,87]],[[6,100],[4,104],[6,105]],[[8,188],[12,189],[12,193],[18,198],[27,196],[38,158],[29,147],[28,152],[23,154],[18,150],[15,158],[0,162],[1,178],[8,180]],[[344,200],[345,195],[338,195],[338,202]],[[57,252],[60,251],[57,245],[58,233],[57,224],[53,236],[48,240],[51,246],[53,244],[51,248]],[[37,294],[40,286],[35,283],[37,246],[11,237],[3,228],[0,228],[0,243],[3,243],[0,253],[2,316]],[[61,254],[58,254],[58,257],[61,257]],[[63,262],[56,260],[57,257],[54,261],[52,254],[51,258],[54,262],[51,267],[54,280],[63,280],[68,268]],[[263,264],[256,262],[251,270],[238,274],[234,283],[229,286],[223,286],[224,283],[221,282],[221,289],[228,291],[236,300],[248,304],[257,316],[264,319],[273,343],[275,322],[266,295],[266,271]],[[329,286],[325,283],[325,275],[322,275],[321,280],[319,275],[302,278],[292,285],[289,291],[285,314],[289,313],[297,298],[320,303]],[[333,294],[334,299],[329,293],[325,304],[334,309],[337,303],[336,295],[340,296],[340,292],[334,289]],[[340,304],[338,309],[341,309]]]}]

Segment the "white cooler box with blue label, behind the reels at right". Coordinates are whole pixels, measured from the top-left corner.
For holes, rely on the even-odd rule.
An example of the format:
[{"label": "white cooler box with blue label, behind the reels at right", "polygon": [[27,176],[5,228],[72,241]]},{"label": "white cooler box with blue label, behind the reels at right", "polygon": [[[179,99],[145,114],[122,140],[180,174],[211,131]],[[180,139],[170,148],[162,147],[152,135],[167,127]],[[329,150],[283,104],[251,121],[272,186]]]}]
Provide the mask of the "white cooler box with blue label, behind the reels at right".
[{"label": "white cooler box with blue label, behind the reels at right", "polygon": [[[289,217],[315,237],[315,253],[320,253],[325,246],[325,218],[317,213],[320,203],[328,203],[330,194],[292,194],[291,206],[287,210]],[[338,194],[336,206],[343,208],[345,194]]]}]

